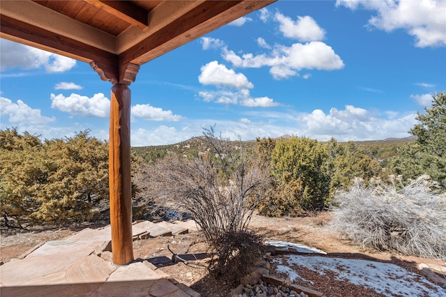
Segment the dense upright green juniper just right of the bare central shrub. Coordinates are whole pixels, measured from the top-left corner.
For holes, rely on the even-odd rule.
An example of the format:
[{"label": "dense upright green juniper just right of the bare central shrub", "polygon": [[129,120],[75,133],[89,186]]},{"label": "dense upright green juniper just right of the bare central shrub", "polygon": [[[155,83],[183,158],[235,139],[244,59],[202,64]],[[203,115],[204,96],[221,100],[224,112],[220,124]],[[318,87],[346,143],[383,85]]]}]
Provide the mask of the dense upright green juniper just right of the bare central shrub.
[{"label": "dense upright green juniper just right of the bare central shrub", "polygon": [[[330,204],[326,147],[306,137],[277,140],[270,148],[271,188],[259,203],[263,215],[295,215]],[[265,153],[266,155],[266,153]]]}]

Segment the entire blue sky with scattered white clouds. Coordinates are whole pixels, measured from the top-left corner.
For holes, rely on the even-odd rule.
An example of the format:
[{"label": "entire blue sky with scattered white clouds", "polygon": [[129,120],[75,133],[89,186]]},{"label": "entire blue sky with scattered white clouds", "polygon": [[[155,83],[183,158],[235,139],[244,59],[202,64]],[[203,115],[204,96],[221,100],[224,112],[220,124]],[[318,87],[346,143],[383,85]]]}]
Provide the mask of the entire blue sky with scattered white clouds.
[{"label": "entire blue sky with scattered white clouds", "polygon": [[[108,139],[112,84],[87,63],[0,40],[1,123],[43,139]],[[132,146],[216,125],[243,140],[407,137],[446,91],[446,1],[284,1],[150,61],[132,91]]]}]

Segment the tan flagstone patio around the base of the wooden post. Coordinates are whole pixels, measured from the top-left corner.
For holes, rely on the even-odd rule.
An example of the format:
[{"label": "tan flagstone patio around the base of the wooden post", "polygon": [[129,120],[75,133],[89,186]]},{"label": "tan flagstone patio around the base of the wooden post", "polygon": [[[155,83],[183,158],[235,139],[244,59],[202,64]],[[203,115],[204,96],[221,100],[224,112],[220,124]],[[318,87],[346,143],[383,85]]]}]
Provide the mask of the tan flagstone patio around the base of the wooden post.
[{"label": "tan flagstone patio around the base of the wooden post", "polygon": [[[172,234],[169,224],[139,222],[134,232],[162,236]],[[190,297],[199,294],[178,287],[166,275],[153,271],[147,261],[114,266],[107,247],[111,230],[84,229],[62,241],[49,241],[23,259],[0,266],[0,296],[159,296]],[[192,294],[192,295],[191,295]]]}]

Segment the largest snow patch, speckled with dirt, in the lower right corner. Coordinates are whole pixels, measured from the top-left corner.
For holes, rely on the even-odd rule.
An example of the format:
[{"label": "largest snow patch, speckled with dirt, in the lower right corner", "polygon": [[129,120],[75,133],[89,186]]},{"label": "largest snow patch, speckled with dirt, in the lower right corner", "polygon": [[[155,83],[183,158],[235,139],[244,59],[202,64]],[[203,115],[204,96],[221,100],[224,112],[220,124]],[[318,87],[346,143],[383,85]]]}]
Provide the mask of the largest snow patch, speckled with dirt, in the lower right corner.
[{"label": "largest snow patch, speckled with dirt, in the lower right corner", "polygon": [[[360,259],[341,259],[320,256],[305,257],[291,254],[284,257],[291,265],[302,266],[325,275],[324,271],[333,271],[337,280],[347,280],[355,285],[369,287],[385,296],[436,296],[446,297],[446,291],[394,264],[380,263]],[[277,272],[286,273],[290,279],[299,277],[291,267],[280,265]]]}]

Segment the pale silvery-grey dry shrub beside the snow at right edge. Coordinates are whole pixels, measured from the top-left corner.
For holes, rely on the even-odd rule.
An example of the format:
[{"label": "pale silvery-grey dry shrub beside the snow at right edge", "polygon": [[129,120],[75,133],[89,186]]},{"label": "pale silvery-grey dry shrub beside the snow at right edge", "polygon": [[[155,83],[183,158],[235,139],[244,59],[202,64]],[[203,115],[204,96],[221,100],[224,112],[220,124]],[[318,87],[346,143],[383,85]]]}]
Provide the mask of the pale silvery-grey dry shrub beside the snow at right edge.
[{"label": "pale silvery-grey dry shrub beside the snow at right edge", "polygon": [[334,204],[332,227],[356,243],[446,259],[446,197],[430,190],[426,176],[401,190],[394,183],[367,187],[356,181]]}]

